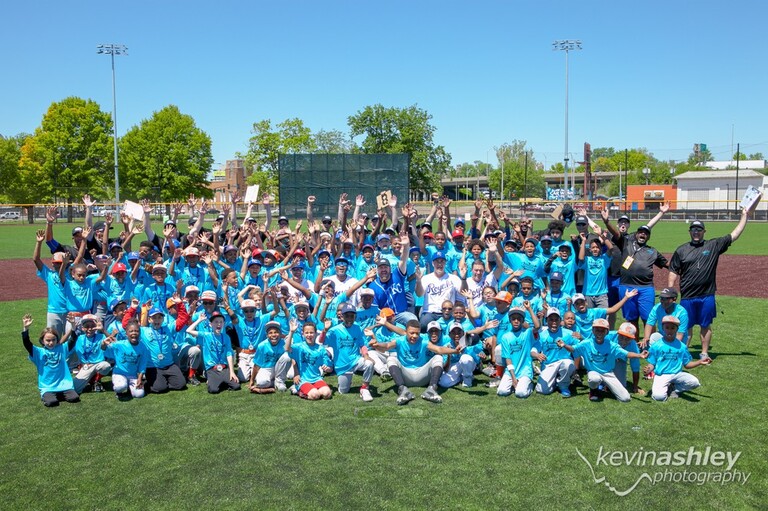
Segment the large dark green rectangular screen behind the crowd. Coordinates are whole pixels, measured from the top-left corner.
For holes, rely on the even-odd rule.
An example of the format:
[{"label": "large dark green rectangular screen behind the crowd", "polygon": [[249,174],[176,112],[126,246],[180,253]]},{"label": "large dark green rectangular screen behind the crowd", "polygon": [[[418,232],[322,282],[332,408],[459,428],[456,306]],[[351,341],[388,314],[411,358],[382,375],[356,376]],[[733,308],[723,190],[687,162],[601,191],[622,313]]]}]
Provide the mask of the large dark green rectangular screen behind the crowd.
[{"label": "large dark green rectangular screen behind the crowd", "polygon": [[[362,194],[363,212],[376,213],[376,196],[386,190],[400,204],[408,202],[408,154],[281,154],[280,214],[305,218],[307,196],[316,198],[313,215],[336,218],[339,195],[346,192],[352,207]],[[351,212],[349,218],[352,218]]]}]

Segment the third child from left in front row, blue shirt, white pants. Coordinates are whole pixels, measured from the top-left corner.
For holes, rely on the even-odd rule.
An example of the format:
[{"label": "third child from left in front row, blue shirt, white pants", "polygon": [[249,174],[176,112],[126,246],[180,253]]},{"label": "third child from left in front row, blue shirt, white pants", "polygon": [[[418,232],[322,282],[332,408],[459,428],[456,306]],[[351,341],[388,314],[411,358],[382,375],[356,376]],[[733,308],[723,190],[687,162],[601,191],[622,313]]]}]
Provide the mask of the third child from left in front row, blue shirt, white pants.
[{"label": "third child from left in front row, blue shirt, white pants", "polygon": [[139,322],[131,320],[125,326],[127,339],[117,341],[106,337],[101,341],[104,356],[115,361],[112,371],[112,389],[120,400],[144,397],[144,372],[147,370],[149,351],[141,343]]}]

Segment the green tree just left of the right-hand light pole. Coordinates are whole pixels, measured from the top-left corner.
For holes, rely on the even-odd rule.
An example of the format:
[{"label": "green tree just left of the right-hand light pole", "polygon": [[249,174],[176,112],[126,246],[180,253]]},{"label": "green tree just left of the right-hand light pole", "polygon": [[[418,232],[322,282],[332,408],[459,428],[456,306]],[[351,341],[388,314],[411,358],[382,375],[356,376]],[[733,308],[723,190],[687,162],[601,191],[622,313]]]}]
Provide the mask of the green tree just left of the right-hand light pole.
[{"label": "green tree just left of the right-hand light pole", "polygon": [[[526,172],[526,155],[528,165]],[[543,197],[546,190],[544,173],[533,158],[533,151],[526,148],[524,140],[513,140],[496,148],[499,166],[491,171],[491,190],[501,190],[502,170],[505,199]]]}]

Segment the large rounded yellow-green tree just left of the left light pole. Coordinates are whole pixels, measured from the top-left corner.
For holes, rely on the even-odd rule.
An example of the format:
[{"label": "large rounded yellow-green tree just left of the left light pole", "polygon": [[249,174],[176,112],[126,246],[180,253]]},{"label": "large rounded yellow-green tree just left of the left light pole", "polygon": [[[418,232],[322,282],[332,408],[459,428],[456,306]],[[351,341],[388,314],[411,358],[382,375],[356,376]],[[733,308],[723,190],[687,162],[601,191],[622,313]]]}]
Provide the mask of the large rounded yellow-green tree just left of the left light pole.
[{"label": "large rounded yellow-green tree just left of the left light pole", "polygon": [[66,199],[83,193],[111,197],[114,188],[112,119],[90,99],[69,97],[52,103],[35,133],[21,147],[22,191],[25,202]]}]

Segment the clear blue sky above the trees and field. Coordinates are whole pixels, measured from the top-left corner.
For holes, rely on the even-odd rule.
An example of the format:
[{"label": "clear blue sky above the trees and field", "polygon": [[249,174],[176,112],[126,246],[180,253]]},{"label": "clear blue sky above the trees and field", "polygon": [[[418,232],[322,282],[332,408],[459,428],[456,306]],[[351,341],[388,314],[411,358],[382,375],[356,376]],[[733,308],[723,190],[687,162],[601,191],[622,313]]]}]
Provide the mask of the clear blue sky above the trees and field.
[{"label": "clear blue sky above the trees and field", "polygon": [[[254,122],[298,117],[347,131],[366,105],[417,104],[453,163],[494,160],[528,141],[547,166],[564,152],[570,54],[570,152],[646,147],[685,159],[768,155],[768,43],[762,0],[6,2],[0,134],[31,133],[53,101],[112,110],[118,133],[168,104],[194,117],[216,162],[245,152]],[[490,154],[489,154],[490,152]]]}]

